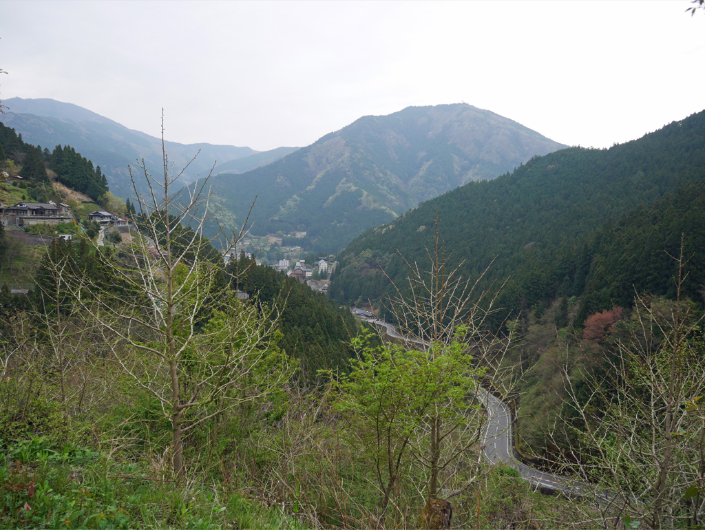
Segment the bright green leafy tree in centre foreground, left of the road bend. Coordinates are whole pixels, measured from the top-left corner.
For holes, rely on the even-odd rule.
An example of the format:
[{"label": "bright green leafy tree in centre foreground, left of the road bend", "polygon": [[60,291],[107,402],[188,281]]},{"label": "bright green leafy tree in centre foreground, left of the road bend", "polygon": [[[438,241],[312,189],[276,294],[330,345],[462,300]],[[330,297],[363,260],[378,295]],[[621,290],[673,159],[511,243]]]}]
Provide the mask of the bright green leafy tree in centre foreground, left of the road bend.
[{"label": "bright green leafy tree in centre foreground, left of the road bend", "polygon": [[[427,350],[374,347],[364,334],[353,341],[358,357],[337,384],[336,407],[352,415],[354,436],[372,459],[383,517],[409,453],[429,470],[428,494],[435,498],[439,474],[477,443],[483,421],[473,395],[485,370],[474,365],[466,339],[467,328],[459,326],[450,343]],[[439,443],[451,434],[443,450]],[[452,483],[450,474],[445,478]]]}]

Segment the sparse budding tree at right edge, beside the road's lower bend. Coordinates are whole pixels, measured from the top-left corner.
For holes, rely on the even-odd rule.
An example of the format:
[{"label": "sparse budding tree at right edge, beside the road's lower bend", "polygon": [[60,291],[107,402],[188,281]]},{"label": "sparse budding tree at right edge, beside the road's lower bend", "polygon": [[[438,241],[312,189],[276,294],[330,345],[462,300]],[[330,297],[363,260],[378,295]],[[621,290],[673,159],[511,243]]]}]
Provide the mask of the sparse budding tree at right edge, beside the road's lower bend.
[{"label": "sparse budding tree at right edge, beside the road's lower bend", "polygon": [[603,378],[591,379],[587,398],[568,383],[568,422],[581,424],[568,439],[580,440],[582,459],[568,469],[597,492],[605,527],[614,517],[632,528],[702,524],[705,342],[693,304],[681,298],[682,248],[675,302],[637,296]]}]

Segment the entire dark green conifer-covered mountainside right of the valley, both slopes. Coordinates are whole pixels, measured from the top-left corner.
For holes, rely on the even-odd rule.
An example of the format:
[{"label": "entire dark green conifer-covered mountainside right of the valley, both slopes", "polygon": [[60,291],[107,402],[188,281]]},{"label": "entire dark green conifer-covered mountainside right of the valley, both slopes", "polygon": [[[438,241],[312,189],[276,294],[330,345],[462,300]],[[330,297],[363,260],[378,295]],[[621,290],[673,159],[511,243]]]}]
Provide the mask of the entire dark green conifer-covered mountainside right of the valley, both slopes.
[{"label": "entire dark green conifer-covered mountainside right of the valley, both slopes", "polygon": [[[348,304],[380,300],[391,289],[381,269],[403,285],[407,270],[396,249],[424,266],[436,207],[450,264],[462,261],[460,272],[470,278],[491,264],[484,285],[509,278],[504,307],[538,307],[554,297],[586,292],[586,311],[594,312],[630,300],[630,283],[663,291],[672,273],[663,249],[675,252],[678,231],[686,231],[693,245],[688,248],[701,253],[704,245],[696,188],[664,197],[703,178],[705,112],[611,149],[572,147],[537,156],[512,173],[469,183],[368,230],[339,254],[331,296]],[[659,200],[669,205],[662,214],[649,210]],[[640,226],[638,233],[624,228],[618,235],[608,224],[594,233],[635,209],[618,226],[635,226],[630,224],[635,218],[653,222],[658,215],[673,222],[661,231]],[[691,281],[693,294],[701,273]]]}]

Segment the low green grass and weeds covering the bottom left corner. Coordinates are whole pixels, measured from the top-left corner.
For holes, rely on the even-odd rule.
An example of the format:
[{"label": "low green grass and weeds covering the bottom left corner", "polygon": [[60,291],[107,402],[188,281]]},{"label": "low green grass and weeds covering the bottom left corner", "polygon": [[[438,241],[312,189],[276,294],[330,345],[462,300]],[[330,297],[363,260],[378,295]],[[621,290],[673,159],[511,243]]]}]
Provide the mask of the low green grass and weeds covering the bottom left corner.
[{"label": "low green grass and weeds covering the bottom left corner", "polygon": [[303,528],[217,485],[151,477],[139,462],[45,436],[0,440],[1,528]]}]

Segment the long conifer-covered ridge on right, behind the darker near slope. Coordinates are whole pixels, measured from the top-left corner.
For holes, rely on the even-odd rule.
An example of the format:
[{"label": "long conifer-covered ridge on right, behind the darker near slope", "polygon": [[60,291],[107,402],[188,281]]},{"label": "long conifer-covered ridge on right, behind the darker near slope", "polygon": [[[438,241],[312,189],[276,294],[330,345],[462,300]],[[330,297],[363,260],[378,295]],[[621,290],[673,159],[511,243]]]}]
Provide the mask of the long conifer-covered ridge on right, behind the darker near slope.
[{"label": "long conifer-covered ridge on right, behind the darker near slope", "polygon": [[379,300],[390,289],[381,267],[401,284],[406,270],[395,249],[424,263],[436,207],[450,263],[462,261],[461,272],[477,277],[494,260],[489,281],[509,278],[505,307],[580,296],[592,259],[581,245],[594,230],[704,177],[704,112],[611,149],[537,156],[513,173],[469,183],[368,230],[339,254],[331,296],[347,304]]}]

